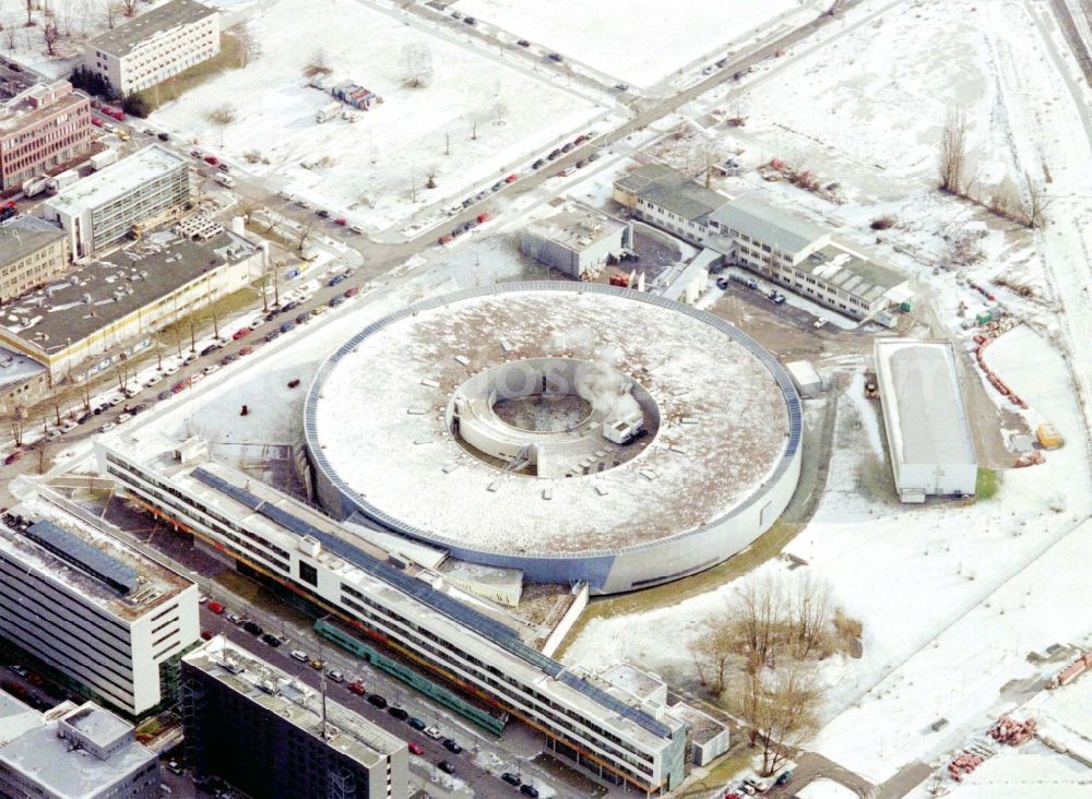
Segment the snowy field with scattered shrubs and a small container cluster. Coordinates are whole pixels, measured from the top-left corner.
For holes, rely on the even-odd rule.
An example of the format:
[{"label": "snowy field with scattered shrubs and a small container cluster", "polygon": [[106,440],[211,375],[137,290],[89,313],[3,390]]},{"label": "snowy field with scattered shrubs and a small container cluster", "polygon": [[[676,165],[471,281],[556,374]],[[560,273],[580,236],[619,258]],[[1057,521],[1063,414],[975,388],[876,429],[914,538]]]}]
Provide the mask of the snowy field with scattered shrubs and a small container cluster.
[{"label": "snowy field with scattered shrubs and a small container cluster", "polygon": [[[247,69],[202,84],[153,121],[274,186],[384,229],[515,171],[602,110],[530,70],[415,25],[414,17],[353,0],[324,0],[321,14],[309,0],[278,0],[247,24],[254,50]],[[430,52],[432,76],[423,87],[403,85],[407,46]],[[316,122],[333,99],[305,85],[304,71],[320,52],[334,77],[367,86],[384,103],[353,123]],[[225,106],[234,121],[219,127],[209,115]],[[247,167],[248,153],[262,163]],[[430,175],[435,189],[426,188]]]}]

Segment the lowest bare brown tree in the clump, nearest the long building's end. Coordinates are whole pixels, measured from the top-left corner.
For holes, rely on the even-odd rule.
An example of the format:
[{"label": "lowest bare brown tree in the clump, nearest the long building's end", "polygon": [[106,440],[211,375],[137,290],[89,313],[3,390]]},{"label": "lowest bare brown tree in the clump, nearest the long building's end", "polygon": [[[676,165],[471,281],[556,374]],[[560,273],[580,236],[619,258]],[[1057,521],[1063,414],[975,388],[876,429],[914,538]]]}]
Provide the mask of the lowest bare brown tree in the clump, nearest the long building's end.
[{"label": "lowest bare brown tree in the clump, nearest the long building's end", "polygon": [[775,772],[819,727],[822,701],[810,665],[791,663],[778,671],[745,673],[728,694],[732,711],[762,749],[762,774]]}]

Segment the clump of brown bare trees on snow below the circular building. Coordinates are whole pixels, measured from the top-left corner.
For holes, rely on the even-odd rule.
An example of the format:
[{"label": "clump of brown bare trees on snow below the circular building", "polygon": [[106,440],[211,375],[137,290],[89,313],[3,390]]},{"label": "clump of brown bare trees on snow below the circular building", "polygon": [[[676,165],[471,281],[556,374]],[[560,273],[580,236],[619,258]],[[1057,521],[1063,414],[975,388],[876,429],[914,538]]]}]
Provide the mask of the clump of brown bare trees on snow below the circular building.
[{"label": "clump of brown bare trees on snow below the circular building", "polygon": [[770,774],[818,728],[816,661],[859,634],[827,583],[767,574],[741,583],[691,654],[698,679],[747,726]]}]

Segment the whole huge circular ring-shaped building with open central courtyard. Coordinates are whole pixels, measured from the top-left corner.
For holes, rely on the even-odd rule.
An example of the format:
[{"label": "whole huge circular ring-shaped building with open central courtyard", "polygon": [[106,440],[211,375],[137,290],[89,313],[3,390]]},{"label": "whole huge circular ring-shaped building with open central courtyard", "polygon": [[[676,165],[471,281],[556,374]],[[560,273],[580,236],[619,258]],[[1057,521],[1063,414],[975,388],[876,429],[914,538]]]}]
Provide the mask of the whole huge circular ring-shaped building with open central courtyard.
[{"label": "whole huge circular ring-shaped building with open central courtyard", "polygon": [[768,351],[602,285],[503,284],[392,313],[323,363],[305,413],[330,512],[601,594],[745,549],[800,470],[799,397]]}]

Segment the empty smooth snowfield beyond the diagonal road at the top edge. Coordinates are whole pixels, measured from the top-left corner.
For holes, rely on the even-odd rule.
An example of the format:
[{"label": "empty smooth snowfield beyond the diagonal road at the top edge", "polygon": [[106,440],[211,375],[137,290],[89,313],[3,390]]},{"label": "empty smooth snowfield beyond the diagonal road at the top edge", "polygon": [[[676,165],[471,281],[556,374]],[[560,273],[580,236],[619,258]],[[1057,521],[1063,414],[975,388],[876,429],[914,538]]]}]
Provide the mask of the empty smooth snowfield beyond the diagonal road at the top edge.
[{"label": "empty smooth snowfield beyond the diagonal road at the top edge", "polygon": [[809,0],[459,0],[455,8],[634,86],[650,86]]}]

